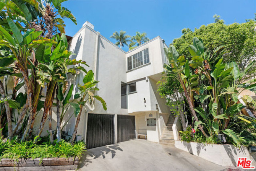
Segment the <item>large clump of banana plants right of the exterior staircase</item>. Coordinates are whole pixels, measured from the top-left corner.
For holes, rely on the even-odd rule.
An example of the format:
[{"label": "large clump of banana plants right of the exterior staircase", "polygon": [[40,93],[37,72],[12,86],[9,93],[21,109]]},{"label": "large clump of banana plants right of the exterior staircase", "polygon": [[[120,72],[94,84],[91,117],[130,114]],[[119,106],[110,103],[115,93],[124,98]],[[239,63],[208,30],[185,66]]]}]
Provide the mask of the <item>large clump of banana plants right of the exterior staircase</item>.
[{"label": "large clump of banana plants right of the exterior staircase", "polygon": [[193,45],[188,47],[191,55],[191,60],[188,60],[185,56],[179,56],[176,48],[171,45],[165,49],[169,58],[165,70],[167,77],[178,80],[184,91],[194,129],[199,129],[207,139],[225,134],[231,143],[240,145],[244,138],[232,130],[233,125],[239,121],[255,123],[253,118],[240,113],[245,106],[238,102],[243,98],[255,104],[251,97],[239,96],[244,89],[256,86],[255,79],[247,82],[243,80],[255,66],[255,61],[245,69],[239,69],[236,62],[223,62],[223,49],[224,46],[219,46],[213,51],[207,50],[202,39],[194,37]]}]

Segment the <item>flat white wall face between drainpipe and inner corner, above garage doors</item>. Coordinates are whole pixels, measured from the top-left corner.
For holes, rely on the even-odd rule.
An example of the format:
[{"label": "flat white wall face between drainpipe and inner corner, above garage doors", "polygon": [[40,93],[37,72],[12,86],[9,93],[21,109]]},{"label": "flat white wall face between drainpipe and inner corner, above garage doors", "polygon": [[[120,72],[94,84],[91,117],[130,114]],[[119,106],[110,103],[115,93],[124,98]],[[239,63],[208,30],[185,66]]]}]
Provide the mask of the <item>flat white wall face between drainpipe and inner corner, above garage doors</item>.
[{"label": "flat white wall face between drainpipe and inner corner, above garage doors", "polygon": [[106,101],[108,110],[95,101],[93,113],[128,114],[128,109],[121,109],[121,82],[126,82],[125,52],[99,36],[96,79],[99,95]]}]

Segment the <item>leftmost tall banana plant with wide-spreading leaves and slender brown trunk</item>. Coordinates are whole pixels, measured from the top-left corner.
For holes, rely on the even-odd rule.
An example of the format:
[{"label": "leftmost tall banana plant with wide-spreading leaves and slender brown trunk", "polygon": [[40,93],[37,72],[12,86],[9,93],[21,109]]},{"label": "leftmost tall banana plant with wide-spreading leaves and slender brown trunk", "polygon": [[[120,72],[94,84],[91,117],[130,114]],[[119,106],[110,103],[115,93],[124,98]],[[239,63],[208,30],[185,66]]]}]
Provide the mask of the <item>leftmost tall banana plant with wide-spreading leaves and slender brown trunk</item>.
[{"label": "leftmost tall banana plant with wide-spreading leaves and slender brown trunk", "polygon": [[[34,54],[32,52],[34,52],[34,49],[38,48],[40,44],[54,43],[54,41],[40,37],[42,31],[35,31],[34,29],[25,31],[22,35],[22,31],[17,27],[14,21],[8,16],[6,19],[10,27],[9,31],[12,32],[12,35],[6,31],[6,28],[0,26],[0,35],[3,37],[3,39],[0,41],[0,45],[10,48],[13,54],[12,57],[17,61],[17,65],[20,68],[24,78],[29,109],[28,125],[30,126],[31,119],[36,112],[37,101],[39,100],[38,98],[33,98],[33,95],[36,92],[33,84],[35,83],[36,76],[29,78],[28,70],[35,68],[35,60],[31,58],[31,56],[33,56],[32,54]],[[32,80],[32,78],[34,80]],[[37,87],[37,92],[39,92],[39,89],[40,87]],[[22,140],[25,139],[28,129],[29,127],[25,129]]]}]

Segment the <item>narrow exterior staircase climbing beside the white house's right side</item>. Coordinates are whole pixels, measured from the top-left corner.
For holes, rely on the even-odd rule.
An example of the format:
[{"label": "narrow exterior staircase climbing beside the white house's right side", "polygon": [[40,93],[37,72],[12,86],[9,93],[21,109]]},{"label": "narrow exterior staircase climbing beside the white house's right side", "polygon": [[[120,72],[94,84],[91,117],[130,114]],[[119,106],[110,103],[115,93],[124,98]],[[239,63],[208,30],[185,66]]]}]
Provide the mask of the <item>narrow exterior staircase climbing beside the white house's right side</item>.
[{"label": "narrow exterior staircase climbing beside the white house's right side", "polygon": [[172,132],[172,125],[174,123],[175,117],[170,114],[167,125],[165,126],[162,136],[160,137],[159,143],[163,144],[174,144],[174,137]]}]

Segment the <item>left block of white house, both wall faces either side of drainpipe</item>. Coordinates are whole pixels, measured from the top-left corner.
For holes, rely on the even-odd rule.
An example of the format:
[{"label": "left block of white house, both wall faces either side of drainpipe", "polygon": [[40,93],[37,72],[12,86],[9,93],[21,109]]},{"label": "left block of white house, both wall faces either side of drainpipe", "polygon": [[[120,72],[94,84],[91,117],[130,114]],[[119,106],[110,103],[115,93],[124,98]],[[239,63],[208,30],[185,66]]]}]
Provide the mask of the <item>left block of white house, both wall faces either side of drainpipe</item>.
[{"label": "left block of white house, both wall faces either side of drainpipe", "polygon": [[[76,53],[71,59],[86,61],[89,65],[86,70],[93,70],[95,79],[100,81],[97,84],[100,91],[96,94],[106,101],[108,110],[104,111],[102,104],[96,100],[91,113],[128,114],[128,109],[121,109],[120,101],[121,82],[126,83],[127,80],[126,53],[87,25],[73,36],[70,51]],[[81,73],[77,77],[76,84],[82,84],[84,75]]]}]

